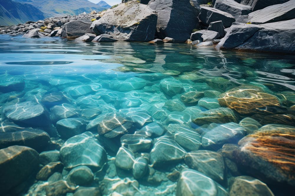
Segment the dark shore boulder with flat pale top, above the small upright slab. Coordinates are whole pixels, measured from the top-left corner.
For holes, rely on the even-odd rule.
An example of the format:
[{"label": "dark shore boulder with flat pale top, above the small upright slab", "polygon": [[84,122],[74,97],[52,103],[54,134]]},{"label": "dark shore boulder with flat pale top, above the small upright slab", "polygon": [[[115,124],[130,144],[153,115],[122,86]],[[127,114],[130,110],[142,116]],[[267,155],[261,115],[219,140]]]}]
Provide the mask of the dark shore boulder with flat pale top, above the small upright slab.
[{"label": "dark shore boulder with flat pale top, above the small upright slab", "polygon": [[211,7],[201,7],[199,19],[205,25],[221,20],[224,27],[230,27],[235,22],[235,17],[231,14]]}]

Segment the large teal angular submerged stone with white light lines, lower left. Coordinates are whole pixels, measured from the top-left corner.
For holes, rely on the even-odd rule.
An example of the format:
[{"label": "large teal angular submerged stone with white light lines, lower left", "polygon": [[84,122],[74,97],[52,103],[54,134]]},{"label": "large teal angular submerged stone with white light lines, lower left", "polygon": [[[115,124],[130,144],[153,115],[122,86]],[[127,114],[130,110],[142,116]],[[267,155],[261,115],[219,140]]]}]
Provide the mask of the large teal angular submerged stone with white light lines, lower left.
[{"label": "large teal angular submerged stone with white light lines, lower left", "polygon": [[60,158],[66,168],[86,165],[100,169],[107,160],[106,151],[91,132],[68,139],[60,148]]}]

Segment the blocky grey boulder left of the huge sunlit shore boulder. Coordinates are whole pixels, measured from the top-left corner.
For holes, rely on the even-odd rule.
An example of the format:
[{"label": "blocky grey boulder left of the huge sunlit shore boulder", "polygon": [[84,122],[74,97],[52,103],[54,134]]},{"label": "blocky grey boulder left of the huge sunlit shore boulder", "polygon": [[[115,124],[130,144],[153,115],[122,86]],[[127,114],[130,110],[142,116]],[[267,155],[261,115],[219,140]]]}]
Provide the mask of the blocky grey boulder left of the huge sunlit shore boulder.
[{"label": "blocky grey boulder left of the huge sunlit shore boulder", "polygon": [[89,22],[79,20],[67,22],[61,31],[61,37],[74,39],[83,36],[86,33],[91,33],[91,29],[89,29],[90,25],[91,23]]}]

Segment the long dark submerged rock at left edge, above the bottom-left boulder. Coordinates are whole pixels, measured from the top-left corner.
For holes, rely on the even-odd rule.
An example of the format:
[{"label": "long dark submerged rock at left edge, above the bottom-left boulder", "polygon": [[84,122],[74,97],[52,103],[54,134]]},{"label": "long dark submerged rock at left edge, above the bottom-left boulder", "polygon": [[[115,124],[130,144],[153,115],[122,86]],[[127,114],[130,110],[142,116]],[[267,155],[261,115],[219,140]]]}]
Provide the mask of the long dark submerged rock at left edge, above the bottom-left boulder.
[{"label": "long dark submerged rock at left edge, above the bottom-left boulder", "polygon": [[0,148],[19,145],[27,146],[40,152],[49,145],[49,142],[49,135],[42,130],[27,129],[16,132],[0,133]]}]

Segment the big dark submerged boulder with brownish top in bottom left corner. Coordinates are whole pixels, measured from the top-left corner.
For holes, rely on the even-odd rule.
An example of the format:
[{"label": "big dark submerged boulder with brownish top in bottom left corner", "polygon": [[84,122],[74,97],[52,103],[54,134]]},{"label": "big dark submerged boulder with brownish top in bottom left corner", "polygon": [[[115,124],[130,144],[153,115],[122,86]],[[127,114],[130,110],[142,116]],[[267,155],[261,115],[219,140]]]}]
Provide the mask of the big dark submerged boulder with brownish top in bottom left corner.
[{"label": "big dark submerged boulder with brownish top in bottom left corner", "polygon": [[25,146],[0,150],[0,192],[5,194],[25,181],[39,165],[39,154]]}]

